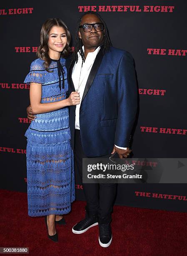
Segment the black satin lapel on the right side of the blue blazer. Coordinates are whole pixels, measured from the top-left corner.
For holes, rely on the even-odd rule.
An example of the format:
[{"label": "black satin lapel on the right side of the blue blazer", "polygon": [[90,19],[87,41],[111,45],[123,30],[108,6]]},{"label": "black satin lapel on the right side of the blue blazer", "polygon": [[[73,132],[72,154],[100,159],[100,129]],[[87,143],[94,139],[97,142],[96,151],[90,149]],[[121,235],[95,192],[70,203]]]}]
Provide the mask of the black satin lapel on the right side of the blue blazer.
[{"label": "black satin lapel on the right side of the blue blazer", "polygon": [[[85,96],[87,95],[87,92],[89,91],[89,89],[90,89],[90,87],[92,85],[92,82],[93,82],[93,80],[95,78],[97,70],[100,67],[100,64],[101,64],[101,61],[102,61],[102,57],[103,57],[103,53],[102,53],[102,47],[101,47],[100,51],[98,52],[98,54],[97,54],[97,56],[95,58],[94,64],[92,66],[92,69],[90,70],[90,74],[89,74],[89,77],[87,79],[85,90],[84,90],[84,93],[83,93],[83,96],[82,96],[82,101],[84,100]],[[82,101],[81,101],[81,104],[82,104]]]}]

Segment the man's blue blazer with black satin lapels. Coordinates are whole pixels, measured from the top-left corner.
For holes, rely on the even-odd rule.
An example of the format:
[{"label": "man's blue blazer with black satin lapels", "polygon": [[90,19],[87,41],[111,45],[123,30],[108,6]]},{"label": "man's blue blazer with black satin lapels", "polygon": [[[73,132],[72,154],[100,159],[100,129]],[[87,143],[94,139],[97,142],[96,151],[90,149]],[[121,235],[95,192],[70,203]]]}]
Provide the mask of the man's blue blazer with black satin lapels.
[{"label": "man's blue blazer with black satin lapels", "polygon": [[[114,145],[128,147],[137,112],[137,83],[130,53],[102,47],[87,79],[80,105],[80,136],[86,156],[111,154]],[[75,91],[69,68],[69,95]],[[78,79],[78,78],[77,78]],[[71,142],[74,148],[75,108],[70,106]]]}]

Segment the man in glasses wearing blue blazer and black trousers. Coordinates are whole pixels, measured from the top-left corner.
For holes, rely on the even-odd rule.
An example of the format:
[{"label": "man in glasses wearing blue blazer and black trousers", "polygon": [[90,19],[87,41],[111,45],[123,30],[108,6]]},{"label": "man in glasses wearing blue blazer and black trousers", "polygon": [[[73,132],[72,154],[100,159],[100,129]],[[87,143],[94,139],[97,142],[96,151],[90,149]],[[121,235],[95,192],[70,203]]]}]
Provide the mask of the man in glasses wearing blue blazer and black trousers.
[{"label": "man in glasses wearing blue blazer and black trousers", "polygon": [[[82,177],[82,158],[109,158],[115,152],[124,158],[130,154],[130,134],[137,111],[132,56],[110,46],[105,22],[95,12],[83,14],[77,24],[69,68],[69,94],[72,91],[80,93],[81,101],[70,108],[70,128],[75,162]],[[83,184],[83,190],[86,215],[72,232],[81,234],[99,225],[100,246],[110,246],[116,184]]]}]

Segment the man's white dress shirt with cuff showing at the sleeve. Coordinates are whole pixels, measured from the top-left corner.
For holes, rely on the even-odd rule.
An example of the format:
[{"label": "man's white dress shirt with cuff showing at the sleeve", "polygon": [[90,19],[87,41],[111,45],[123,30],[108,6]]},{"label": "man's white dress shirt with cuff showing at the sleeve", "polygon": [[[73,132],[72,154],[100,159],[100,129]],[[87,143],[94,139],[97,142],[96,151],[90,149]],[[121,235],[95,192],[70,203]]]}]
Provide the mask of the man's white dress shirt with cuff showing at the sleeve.
[{"label": "man's white dress shirt with cuff showing at the sleeve", "polygon": [[[84,46],[82,46],[82,50],[84,51]],[[77,61],[77,63],[75,63],[73,70],[72,70],[72,81],[75,86],[75,90],[78,89],[78,92],[80,93],[80,103],[82,101],[82,96],[83,96],[83,93],[85,90],[87,79],[90,74],[90,70],[92,69],[92,66],[94,64],[95,58],[96,58],[99,50],[100,50],[100,46],[97,47],[95,49],[95,51],[89,52],[87,54],[85,62],[83,61],[83,64],[82,64],[82,57],[80,56],[80,53],[78,52],[78,61]],[[75,129],[77,129],[77,130],[80,130],[79,111],[80,111],[80,104],[76,105],[76,110],[75,110]],[[127,149],[127,148],[122,148],[119,146],[116,146],[116,147],[121,148],[121,149]]]}]

